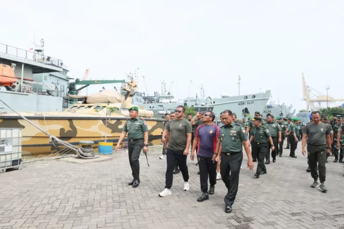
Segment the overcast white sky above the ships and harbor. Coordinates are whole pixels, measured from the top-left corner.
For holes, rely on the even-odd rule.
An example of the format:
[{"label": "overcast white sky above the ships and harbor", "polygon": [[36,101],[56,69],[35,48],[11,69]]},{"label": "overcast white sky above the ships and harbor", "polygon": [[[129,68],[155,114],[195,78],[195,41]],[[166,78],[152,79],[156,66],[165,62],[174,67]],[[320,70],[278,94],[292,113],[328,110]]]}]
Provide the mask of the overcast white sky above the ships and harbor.
[{"label": "overcast white sky above the ships and harbor", "polygon": [[89,68],[92,79],[125,79],[140,68],[149,93],[174,81],[184,99],[190,80],[190,96],[200,84],[206,96],[237,95],[240,75],[241,95],[271,90],[275,103],[299,110],[304,72],[311,87],[326,94],[330,84],[329,95],[344,98],[342,0],[1,2],[0,43],[28,50],[34,35],[44,38],[45,54],[73,78]]}]

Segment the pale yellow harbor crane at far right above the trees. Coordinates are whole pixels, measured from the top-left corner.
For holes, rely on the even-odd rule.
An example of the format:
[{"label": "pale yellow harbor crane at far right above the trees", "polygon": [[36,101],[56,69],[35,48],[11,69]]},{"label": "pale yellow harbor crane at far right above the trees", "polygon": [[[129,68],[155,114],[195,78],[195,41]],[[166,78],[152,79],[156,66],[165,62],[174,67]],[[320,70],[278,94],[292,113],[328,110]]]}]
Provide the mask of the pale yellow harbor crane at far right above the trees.
[{"label": "pale yellow harbor crane at far right above the trees", "polygon": [[[319,110],[321,109],[321,103],[326,103],[327,106],[334,102],[342,102],[344,99],[334,99],[328,95],[329,86],[326,87],[327,95],[319,92],[318,90],[310,87],[306,84],[304,73],[302,73],[302,89],[303,100],[306,101],[306,110]],[[317,104],[316,104],[317,103]]]}]

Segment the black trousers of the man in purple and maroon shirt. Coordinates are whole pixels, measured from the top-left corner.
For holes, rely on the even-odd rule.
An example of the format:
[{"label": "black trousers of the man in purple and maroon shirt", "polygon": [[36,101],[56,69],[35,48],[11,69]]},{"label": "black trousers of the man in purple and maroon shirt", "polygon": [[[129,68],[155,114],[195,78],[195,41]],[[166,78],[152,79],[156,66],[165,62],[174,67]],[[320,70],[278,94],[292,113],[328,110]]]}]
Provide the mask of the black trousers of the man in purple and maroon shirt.
[{"label": "black trousers of the man in purple and maroon shirt", "polygon": [[208,192],[208,176],[210,187],[216,185],[216,166],[217,162],[212,162],[211,157],[198,156],[199,180],[201,182],[201,191]]}]

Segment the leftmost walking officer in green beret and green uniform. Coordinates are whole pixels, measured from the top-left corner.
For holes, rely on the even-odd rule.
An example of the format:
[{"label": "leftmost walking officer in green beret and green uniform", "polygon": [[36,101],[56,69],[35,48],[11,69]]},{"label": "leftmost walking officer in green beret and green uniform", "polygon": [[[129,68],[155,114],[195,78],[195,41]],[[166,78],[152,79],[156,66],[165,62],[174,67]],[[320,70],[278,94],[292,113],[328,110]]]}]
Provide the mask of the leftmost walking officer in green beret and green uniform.
[{"label": "leftmost walking officer in green beret and green uniform", "polygon": [[128,153],[129,163],[132,168],[132,175],[134,179],[128,185],[136,188],[140,184],[140,153],[143,149],[144,153],[148,151],[148,126],[147,122],[139,117],[139,108],[131,107],[129,109],[129,116],[123,126],[122,133],[116,145],[116,151],[123,141],[126,133],[128,133]]}]

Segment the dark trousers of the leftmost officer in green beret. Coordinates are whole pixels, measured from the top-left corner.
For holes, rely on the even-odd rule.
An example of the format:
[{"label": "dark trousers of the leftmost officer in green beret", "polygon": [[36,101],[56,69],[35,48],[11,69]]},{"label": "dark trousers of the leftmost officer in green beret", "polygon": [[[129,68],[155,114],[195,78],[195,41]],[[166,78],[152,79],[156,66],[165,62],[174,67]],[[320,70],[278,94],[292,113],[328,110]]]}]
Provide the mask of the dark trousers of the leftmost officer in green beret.
[{"label": "dark trousers of the leftmost officer in green beret", "polygon": [[135,142],[128,141],[129,164],[132,168],[132,175],[135,180],[140,180],[140,154],[143,148],[143,140]]}]

